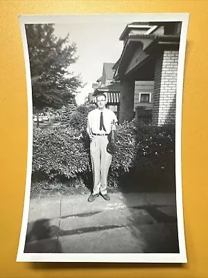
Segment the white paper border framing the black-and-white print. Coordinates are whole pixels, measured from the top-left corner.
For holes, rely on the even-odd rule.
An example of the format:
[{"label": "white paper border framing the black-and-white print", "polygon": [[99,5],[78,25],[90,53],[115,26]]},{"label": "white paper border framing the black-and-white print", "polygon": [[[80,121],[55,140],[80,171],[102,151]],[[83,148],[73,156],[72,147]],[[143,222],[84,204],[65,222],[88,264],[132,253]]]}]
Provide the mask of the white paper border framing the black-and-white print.
[{"label": "white paper border framing the black-and-white print", "polygon": [[[176,175],[176,207],[179,253],[73,253],[73,254],[49,254],[49,253],[24,253],[26,230],[28,224],[28,212],[31,195],[31,172],[33,157],[33,103],[31,88],[31,70],[28,56],[25,24],[55,24],[55,23],[87,23],[96,22],[182,22],[180,35],[179,60],[177,68],[177,98],[175,115],[175,175]],[[73,15],[19,15],[21,38],[24,49],[26,65],[26,86],[28,97],[28,155],[26,170],[26,188],[24,198],[24,211],[17,251],[17,262],[105,262],[105,263],[187,263],[187,252],[184,236],[184,216],[182,205],[182,163],[181,163],[181,135],[182,135],[182,91],[184,78],[184,60],[187,44],[187,31],[189,13],[142,13],[142,14],[73,14]]]}]

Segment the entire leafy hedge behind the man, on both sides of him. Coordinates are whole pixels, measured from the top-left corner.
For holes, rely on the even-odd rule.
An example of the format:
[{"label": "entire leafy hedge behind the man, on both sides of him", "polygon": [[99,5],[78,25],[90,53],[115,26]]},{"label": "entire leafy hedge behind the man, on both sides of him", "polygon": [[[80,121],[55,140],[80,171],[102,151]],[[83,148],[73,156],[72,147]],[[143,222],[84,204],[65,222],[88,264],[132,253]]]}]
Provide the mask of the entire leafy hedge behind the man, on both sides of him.
[{"label": "entire leafy hedge behind the man, on both sides of him", "polygon": [[[86,133],[87,111],[76,111],[67,126],[35,129],[33,132],[33,174],[47,179],[80,179],[91,171],[89,138]],[[75,128],[75,126],[78,128]],[[175,129],[151,126],[135,120],[117,128],[119,151],[112,156],[109,181],[116,184],[123,173],[132,169],[173,169],[175,165]]]}]

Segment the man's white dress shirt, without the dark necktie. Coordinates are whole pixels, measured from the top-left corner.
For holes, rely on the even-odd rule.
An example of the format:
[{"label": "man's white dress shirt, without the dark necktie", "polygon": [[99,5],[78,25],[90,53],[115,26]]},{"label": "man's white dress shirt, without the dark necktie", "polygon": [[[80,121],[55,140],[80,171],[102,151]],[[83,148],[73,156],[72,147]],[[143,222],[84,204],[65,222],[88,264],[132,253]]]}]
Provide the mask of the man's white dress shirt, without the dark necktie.
[{"label": "man's white dress shirt, without the dark necktie", "polygon": [[[104,131],[103,129],[100,130],[101,112],[103,112],[103,124],[106,131]],[[114,112],[107,108],[103,109],[103,111],[98,108],[90,111],[87,116],[87,133],[89,135],[89,138],[93,137],[92,133],[109,134],[111,131],[113,120],[115,122],[118,122]]]}]

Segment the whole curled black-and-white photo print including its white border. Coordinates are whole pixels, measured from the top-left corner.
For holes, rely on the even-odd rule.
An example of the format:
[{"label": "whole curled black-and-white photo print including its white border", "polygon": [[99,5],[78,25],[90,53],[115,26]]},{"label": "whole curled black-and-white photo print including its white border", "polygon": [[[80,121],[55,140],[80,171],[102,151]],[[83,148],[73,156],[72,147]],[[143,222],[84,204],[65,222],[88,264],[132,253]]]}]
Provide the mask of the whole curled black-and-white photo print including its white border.
[{"label": "whole curled black-and-white photo print including its white border", "polygon": [[187,262],[189,15],[19,19],[28,161],[17,261]]}]

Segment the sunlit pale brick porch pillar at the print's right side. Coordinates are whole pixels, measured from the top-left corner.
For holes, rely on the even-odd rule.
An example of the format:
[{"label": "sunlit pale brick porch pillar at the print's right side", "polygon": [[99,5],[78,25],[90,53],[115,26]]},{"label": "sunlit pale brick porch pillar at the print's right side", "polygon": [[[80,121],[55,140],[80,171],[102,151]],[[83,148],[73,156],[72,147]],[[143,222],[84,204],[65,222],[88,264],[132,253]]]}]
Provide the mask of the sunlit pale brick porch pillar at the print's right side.
[{"label": "sunlit pale brick porch pillar at the print's right side", "polygon": [[155,65],[153,124],[175,124],[178,51],[163,51]]}]

